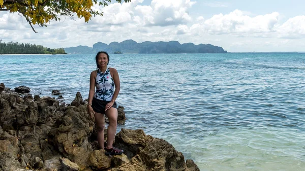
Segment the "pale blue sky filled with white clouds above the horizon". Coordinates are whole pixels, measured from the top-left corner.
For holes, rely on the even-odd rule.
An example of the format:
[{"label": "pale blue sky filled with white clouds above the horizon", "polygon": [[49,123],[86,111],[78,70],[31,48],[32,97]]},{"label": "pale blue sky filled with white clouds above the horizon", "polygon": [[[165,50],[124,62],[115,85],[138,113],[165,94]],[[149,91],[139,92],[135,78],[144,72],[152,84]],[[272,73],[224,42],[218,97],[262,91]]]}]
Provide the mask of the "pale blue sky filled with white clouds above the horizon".
[{"label": "pale blue sky filled with white clouds above the horizon", "polygon": [[72,47],[94,43],[178,41],[229,52],[305,51],[305,1],[132,0],[95,7],[103,17],[69,18],[34,33],[18,14],[0,12],[0,39]]}]

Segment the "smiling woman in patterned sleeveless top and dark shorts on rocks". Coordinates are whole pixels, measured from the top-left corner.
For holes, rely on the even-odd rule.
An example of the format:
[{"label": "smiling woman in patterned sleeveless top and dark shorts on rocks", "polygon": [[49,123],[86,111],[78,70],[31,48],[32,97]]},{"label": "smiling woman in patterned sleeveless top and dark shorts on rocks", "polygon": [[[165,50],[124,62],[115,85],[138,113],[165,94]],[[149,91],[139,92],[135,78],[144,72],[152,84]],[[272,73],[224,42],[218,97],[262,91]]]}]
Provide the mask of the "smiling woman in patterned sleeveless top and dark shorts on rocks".
[{"label": "smiling woman in patterned sleeveless top and dark shorts on rocks", "polygon": [[[90,90],[88,98],[88,113],[92,117],[94,114],[98,142],[101,149],[104,149],[104,114],[109,119],[107,129],[106,155],[122,154],[124,151],[112,147],[116,132],[117,109],[115,99],[118,95],[120,85],[118,73],[114,68],[107,67],[109,55],[107,52],[100,51],[96,55],[97,70],[90,74]],[[115,91],[113,92],[115,86]],[[95,91],[95,87],[97,90]]]}]

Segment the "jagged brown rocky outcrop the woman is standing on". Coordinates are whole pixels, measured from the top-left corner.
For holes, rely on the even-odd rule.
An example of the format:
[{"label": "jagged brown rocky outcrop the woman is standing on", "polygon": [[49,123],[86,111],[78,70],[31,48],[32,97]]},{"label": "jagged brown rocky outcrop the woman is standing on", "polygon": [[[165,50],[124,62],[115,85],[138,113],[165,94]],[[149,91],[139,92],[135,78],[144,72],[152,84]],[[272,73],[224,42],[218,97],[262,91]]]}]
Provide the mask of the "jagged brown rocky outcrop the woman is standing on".
[{"label": "jagged brown rocky outcrop the woman is standing on", "polygon": [[[171,144],[141,129],[121,129],[114,146],[125,152],[106,156],[79,92],[71,105],[28,92],[0,84],[0,170],[199,170]],[[118,113],[118,124],[124,124],[124,108]]]}]

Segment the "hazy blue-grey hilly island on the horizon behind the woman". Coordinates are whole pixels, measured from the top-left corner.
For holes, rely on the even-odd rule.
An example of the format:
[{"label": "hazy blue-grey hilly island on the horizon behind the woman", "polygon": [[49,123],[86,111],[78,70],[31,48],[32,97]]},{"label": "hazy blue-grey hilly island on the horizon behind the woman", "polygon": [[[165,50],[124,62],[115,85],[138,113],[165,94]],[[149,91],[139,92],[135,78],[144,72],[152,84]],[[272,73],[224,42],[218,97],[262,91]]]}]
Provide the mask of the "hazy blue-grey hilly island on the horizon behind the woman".
[{"label": "hazy blue-grey hilly island on the horizon behind the woman", "polygon": [[77,46],[65,48],[66,53],[97,53],[99,51],[106,51],[108,53],[227,53],[222,47],[211,44],[193,43],[180,44],[177,41],[170,42],[142,42],[137,43],[133,40],[126,40],[123,42],[111,42],[109,45],[98,42],[93,47]]}]

